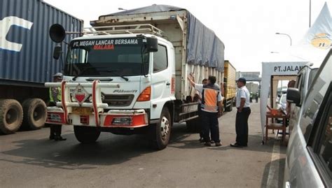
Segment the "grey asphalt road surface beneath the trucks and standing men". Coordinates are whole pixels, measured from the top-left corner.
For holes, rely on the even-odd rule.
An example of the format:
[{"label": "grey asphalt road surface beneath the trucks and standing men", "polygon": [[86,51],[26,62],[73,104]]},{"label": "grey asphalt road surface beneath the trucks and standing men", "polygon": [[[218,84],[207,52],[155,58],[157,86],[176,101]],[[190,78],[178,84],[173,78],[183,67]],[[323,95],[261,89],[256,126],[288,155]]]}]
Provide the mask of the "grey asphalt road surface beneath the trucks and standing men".
[{"label": "grey asphalt road surface beneath the trucks and standing men", "polygon": [[258,104],[251,106],[249,147],[238,149],[229,146],[235,108],[219,119],[221,147],[204,147],[185,124],[174,125],[162,151],[144,136],[111,133],[82,145],[70,126],[61,142],[48,140],[48,128],[0,136],[0,187],[282,187],[286,147],[272,134],[261,145]]}]

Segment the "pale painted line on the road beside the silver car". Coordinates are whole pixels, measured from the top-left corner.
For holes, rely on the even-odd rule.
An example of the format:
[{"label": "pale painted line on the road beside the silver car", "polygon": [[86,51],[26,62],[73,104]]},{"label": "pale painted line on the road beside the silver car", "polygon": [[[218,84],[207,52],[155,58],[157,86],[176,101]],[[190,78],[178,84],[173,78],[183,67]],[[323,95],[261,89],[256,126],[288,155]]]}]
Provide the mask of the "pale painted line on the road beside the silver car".
[{"label": "pale painted line on the road beside the silver car", "polygon": [[268,171],[267,187],[278,187],[279,182],[279,159],[280,159],[280,145],[278,142],[273,144],[270,168]]}]

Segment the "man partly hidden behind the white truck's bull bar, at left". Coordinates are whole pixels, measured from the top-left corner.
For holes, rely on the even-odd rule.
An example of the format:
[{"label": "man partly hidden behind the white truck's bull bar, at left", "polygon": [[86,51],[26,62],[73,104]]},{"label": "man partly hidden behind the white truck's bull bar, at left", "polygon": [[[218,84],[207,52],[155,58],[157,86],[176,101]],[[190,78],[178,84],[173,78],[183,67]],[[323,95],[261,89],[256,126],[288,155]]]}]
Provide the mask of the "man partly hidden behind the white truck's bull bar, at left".
[{"label": "man partly hidden behind the white truck's bull bar, at left", "polygon": [[[53,82],[61,82],[62,73],[53,75]],[[61,101],[61,87],[50,88],[50,106],[57,106],[57,102]],[[67,140],[61,136],[61,124],[50,124],[50,140]]]}]

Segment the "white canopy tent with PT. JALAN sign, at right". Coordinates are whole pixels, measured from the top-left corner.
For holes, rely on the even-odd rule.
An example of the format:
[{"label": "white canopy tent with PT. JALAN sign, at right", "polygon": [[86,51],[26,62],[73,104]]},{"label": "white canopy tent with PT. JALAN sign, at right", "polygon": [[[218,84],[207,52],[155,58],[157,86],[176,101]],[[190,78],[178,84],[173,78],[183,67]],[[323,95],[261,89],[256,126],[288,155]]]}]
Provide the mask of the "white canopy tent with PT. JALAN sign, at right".
[{"label": "white canopy tent with PT. JALAN sign, at right", "polygon": [[262,63],[261,126],[263,138],[269,92],[271,91],[270,99],[274,106],[273,93],[276,92],[278,80],[291,80],[289,76],[297,75],[300,68],[305,65],[313,64],[314,67],[319,67],[331,46],[332,17],[327,3],[325,3],[317,20],[298,45],[287,49],[286,52],[272,54],[268,61]]}]

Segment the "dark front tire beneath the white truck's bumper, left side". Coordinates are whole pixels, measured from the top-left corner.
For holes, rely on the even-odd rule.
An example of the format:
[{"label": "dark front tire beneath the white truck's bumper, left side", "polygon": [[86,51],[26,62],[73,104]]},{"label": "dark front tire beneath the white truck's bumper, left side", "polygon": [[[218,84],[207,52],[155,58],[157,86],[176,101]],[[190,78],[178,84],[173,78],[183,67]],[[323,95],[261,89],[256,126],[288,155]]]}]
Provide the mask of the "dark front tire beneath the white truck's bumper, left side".
[{"label": "dark front tire beneath the white truck's bumper, left side", "polygon": [[100,131],[92,126],[74,126],[74,133],[80,143],[95,143],[100,135]]}]

